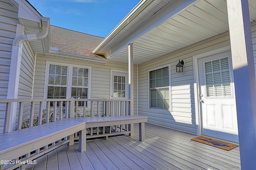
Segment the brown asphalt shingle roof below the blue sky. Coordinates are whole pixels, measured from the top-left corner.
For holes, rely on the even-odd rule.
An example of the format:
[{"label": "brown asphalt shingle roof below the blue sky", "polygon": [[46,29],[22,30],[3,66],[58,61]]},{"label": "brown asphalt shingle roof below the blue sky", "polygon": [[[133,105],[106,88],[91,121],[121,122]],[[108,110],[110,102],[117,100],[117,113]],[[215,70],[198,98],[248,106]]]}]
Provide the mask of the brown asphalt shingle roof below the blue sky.
[{"label": "brown asphalt shingle roof below the blue sky", "polygon": [[58,48],[58,51],[105,58],[102,55],[92,53],[103,39],[102,37],[50,25],[51,47]]}]

